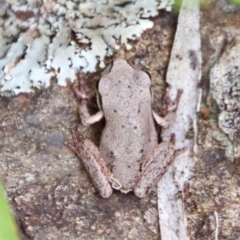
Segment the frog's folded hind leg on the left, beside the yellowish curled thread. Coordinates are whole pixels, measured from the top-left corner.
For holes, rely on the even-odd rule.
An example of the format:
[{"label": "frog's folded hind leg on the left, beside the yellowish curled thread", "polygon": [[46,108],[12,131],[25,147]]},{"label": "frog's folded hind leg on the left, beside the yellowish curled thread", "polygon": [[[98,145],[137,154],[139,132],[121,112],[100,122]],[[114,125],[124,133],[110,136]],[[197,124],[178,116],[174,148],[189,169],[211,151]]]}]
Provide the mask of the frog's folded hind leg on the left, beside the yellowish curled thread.
[{"label": "frog's folded hind leg on the left, beside the yellowish curled thread", "polygon": [[85,139],[79,155],[100,195],[103,198],[109,197],[112,194],[111,172],[101,157],[98,148],[89,139]]}]

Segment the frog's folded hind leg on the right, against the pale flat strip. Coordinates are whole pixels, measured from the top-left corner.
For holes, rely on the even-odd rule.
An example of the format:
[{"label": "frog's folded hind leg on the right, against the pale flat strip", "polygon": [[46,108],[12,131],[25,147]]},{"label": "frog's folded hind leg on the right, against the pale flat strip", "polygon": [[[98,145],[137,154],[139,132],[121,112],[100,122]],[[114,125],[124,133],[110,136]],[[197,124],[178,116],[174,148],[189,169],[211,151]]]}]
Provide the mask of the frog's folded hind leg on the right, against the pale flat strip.
[{"label": "frog's folded hind leg on the right, against the pale flat strip", "polygon": [[174,146],[169,142],[158,144],[142,166],[142,174],[134,192],[136,196],[145,197],[159,182],[174,158]]}]

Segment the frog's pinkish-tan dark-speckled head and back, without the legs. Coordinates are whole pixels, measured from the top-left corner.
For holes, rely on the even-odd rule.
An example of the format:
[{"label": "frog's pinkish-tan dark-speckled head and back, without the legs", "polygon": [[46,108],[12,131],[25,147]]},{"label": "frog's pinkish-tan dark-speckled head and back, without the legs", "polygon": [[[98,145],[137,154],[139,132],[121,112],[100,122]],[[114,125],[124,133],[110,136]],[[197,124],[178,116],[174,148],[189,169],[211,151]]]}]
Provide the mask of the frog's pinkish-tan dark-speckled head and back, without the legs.
[{"label": "frog's pinkish-tan dark-speckled head and back, without the legs", "polygon": [[123,190],[132,190],[144,157],[157,144],[150,78],[123,59],[99,83],[106,118],[100,151]]}]

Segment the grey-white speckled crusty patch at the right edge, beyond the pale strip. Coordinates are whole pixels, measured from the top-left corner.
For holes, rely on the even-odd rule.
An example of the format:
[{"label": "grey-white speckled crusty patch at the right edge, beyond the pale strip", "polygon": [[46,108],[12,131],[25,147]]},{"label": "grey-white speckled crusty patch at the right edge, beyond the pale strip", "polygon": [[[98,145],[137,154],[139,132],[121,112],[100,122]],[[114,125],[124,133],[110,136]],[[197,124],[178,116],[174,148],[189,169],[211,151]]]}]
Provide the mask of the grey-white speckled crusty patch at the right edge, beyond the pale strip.
[{"label": "grey-white speckled crusty patch at the right edge, beyond the pale strip", "polygon": [[[224,147],[229,146],[228,149],[230,150],[233,147],[233,151],[228,151],[227,154],[231,161],[238,159],[240,156],[239,51],[240,37],[235,36],[228,42],[221,58],[210,72],[210,93],[220,111],[218,127],[226,134],[226,140],[222,138],[221,143]],[[224,135],[223,133],[221,135]]]}]

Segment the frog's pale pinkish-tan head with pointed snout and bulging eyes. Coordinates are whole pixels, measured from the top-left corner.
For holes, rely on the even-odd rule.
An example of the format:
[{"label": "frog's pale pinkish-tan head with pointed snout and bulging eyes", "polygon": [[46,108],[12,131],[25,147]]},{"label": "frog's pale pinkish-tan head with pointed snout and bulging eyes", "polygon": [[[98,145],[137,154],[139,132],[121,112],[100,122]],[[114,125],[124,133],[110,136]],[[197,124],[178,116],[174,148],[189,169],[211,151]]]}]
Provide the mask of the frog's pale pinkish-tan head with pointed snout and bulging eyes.
[{"label": "frog's pale pinkish-tan head with pointed snout and bulging eyes", "polygon": [[[151,103],[149,75],[133,68],[125,59],[117,58],[99,81],[98,90],[102,107],[113,106],[121,112],[126,108],[137,113],[142,102]],[[134,109],[136,105],[136,109]]]}]

